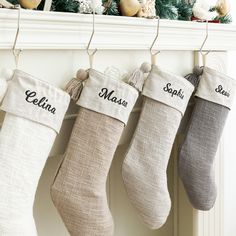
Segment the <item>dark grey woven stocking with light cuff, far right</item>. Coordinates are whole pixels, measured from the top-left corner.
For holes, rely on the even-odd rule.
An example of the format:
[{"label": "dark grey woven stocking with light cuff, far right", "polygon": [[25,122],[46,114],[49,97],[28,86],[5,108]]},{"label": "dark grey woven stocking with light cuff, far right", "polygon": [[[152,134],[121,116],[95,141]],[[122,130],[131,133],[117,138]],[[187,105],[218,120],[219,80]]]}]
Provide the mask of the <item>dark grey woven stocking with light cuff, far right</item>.
[{"label": "dark grey woven stocking with light cuff, far right", "polygon": [[217,190],[213,162],[235,93],[235,80],[204,68],[179,155],[179,174],[193,207],[209,210]]}]

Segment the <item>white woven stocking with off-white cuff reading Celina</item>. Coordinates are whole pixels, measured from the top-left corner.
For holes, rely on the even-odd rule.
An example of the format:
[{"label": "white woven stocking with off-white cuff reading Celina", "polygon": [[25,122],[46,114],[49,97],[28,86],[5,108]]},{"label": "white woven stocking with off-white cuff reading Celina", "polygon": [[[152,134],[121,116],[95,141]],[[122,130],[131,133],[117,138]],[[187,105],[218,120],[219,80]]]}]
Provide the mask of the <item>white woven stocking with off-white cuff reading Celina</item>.
[{"label": "white woven stocking with off-white cuff reading Celina", "polygon": [[69,101],[67,93],[15,71],[1,107],[1,236],[37,235],[35,192]]}]

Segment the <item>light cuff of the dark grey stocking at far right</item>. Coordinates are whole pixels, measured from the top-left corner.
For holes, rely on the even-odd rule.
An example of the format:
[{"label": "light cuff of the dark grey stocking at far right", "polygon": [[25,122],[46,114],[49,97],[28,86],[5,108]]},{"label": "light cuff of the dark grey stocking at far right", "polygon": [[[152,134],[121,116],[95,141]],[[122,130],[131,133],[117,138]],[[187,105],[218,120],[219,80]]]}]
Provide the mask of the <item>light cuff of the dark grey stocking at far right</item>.
[{"label": "light cuff of the dark grey stocking at far right", "polygon": [[236,81],[214,69],[205,67],[195,96],[205,100],[232,107]]}]

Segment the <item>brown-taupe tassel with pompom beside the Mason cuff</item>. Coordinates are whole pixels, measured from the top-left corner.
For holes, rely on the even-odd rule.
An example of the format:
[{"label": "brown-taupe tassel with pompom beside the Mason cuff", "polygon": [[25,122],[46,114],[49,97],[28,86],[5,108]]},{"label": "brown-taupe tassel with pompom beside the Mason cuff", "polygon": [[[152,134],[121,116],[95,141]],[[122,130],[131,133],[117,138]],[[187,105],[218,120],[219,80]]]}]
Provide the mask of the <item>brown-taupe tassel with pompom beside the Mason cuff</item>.
[{"label": "brown-taupe tassel with pompom beside the Mason cuff", "polygon": [[77,102],[83,90],[83,82],[89,77],[88,71],[80,69],[76,73],[76,78],[73,78],[66,86],[66,92],[70,94],[73,101]]}]

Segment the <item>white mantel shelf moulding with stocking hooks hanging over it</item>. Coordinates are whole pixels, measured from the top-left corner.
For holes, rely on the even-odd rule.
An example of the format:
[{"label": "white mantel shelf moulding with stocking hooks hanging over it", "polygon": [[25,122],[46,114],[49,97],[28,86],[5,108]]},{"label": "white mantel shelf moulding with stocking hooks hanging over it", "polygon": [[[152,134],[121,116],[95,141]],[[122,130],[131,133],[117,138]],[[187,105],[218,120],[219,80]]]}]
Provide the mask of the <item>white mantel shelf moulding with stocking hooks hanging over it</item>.
[{"label": "white mantel shelf moulding with stocking hooks hanging over it", "polygon": [[[21,10],[22,49],[85,49],[91,35],[92,15]],[[0,9],[0,49],[12,48],[17,10]],[[156,34],[157,20],[95,16],[92,47],[101,50],[147,50]],[[161,20],[156,48],[198,50],[205,38],[206,23]],[[236,26],[209,23],[204,49],[236,50]]]}]

